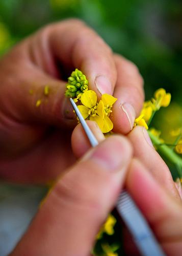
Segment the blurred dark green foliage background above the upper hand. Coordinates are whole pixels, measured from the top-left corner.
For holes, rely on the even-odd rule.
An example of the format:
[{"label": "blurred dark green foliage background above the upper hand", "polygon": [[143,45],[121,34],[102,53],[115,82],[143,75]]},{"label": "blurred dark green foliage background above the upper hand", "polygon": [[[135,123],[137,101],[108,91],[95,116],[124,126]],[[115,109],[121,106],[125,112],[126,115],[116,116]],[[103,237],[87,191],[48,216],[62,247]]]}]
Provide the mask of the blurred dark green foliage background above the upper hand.
[{"label": "blurred dark green foliage background above the upper hand", "polygon": [[136,63],[146,99],[161,87],[172,94],[171,105],[154,121],[165,138],[182,126],[181,0],[1,0],[0,55],[40,27],[68,17],[85,20],[115,52]]}]

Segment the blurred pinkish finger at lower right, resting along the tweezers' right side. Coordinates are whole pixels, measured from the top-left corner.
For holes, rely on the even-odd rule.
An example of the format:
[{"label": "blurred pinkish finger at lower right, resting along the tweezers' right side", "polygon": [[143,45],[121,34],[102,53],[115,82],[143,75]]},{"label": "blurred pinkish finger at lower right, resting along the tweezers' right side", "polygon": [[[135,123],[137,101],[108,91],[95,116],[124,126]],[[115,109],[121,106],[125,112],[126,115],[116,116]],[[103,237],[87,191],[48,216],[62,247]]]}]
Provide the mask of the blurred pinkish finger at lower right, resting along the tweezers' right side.
[{"label": "blurred pinkish finger at lower right, resting along the tweezers' right side", "polygon": [[126,186],[152,227],[167,255],[182,249],[182,206],[137,160],[131,164]]}]

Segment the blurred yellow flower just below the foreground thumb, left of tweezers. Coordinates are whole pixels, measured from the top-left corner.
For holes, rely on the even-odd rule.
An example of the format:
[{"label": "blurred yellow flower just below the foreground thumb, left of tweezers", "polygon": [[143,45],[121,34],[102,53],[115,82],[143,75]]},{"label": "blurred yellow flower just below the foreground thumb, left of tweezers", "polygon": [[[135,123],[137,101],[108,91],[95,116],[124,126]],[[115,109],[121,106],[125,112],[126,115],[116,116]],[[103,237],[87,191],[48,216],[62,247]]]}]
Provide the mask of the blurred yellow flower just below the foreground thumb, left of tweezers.
[{"label": "blurred yellow flower just below the foreground thumb, left of tweezers", "polygon": [[107,233],[110,236],[114,234],[114,225],[116,224],[116,219],[114,218],[113,215],[109,215],[106,222],[102,225],[100,228],[98,234],[97,234],[97,239],[100,239],[102,237],[102,233]]}]

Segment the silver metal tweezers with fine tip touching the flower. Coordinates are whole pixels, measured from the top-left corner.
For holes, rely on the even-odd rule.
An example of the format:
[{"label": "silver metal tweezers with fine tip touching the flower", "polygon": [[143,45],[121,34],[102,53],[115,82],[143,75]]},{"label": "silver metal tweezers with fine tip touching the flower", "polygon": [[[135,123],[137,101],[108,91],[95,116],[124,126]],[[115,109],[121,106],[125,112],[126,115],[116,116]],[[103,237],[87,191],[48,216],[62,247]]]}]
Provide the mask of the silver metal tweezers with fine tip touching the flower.
[{"label": "silver metal tweezers with fine tip touching the flower", "polygon": [[[70,98],[73,109],[81,122],[83,129],[90,141],[92,147],[98,145],[98,141],[91,132],[85,119],[80,113],[77,105]],[[127,226],[128,230],[132,234],[133,240],[138,247],[141,255],[143,256],[165,256],[161,246],[155,239],[152,230],[150,229],[145,217],[135,204],[132,197],[126,190],[123,190],[118,198],[116,209]]]}]

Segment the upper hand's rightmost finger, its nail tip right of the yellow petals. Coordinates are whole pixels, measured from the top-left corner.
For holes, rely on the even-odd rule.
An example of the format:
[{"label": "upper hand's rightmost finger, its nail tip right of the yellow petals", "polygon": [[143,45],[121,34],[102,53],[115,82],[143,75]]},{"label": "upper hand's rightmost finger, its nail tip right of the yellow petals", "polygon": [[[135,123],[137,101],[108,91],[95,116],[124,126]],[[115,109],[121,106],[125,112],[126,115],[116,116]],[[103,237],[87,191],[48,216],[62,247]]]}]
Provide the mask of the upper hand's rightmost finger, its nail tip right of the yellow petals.
[{"label": "upper hand's rightmost finger, its nail tip right of the yellow petals", "polygon": [[114,132],[126,134],[133,129],[135,118],[140,114],[144,101],[143,79],[138,68],[129,60],[116,55],[117,82],[111,119]]}]

